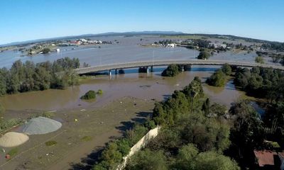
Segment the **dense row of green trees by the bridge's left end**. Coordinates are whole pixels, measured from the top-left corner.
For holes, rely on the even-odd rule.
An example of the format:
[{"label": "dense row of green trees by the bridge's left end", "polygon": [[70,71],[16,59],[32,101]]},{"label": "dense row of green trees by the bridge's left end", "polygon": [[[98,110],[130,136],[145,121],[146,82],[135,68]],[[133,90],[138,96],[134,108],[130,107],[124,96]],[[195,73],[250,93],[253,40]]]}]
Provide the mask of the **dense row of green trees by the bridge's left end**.
[{"label": "dense row of green trees by the bridge's left end", "polygon": [[78,84],[77,74],[72,69],[79,68],[78,59],[65,57],[50,62],[34,64],[20,60],[13,63],[11,69],[0,69],[0,96],[18,92],[45,89],[65,89]]}]

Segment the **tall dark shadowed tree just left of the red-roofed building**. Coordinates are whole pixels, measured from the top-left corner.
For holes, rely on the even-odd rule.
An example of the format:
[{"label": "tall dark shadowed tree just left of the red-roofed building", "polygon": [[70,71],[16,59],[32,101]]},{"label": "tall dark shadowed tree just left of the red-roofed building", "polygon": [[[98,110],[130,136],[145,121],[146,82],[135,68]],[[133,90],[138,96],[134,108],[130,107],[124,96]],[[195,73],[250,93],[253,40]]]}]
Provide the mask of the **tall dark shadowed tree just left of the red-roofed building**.
[{"label": "tall dark shadowed tree just left of the red-roofed building", "polygon": [[231,147],[228,153],[241,165],[247,166],[248,162],[253,162],[253,149],[261,149],[264,146],[263,123],[258,113],[249,105],[249,101],[234,103],[229,112],[234,115],[234,127],[231,128]]}]

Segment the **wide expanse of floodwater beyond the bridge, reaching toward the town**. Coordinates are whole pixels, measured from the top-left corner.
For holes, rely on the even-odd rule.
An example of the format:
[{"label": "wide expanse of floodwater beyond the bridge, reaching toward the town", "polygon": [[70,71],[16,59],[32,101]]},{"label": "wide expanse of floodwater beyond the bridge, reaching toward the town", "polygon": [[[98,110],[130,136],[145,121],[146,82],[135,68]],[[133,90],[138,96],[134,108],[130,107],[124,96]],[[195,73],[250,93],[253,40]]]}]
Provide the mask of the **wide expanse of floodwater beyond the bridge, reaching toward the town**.
[{"label": "wide expanse of floodwater beyond the bridge, reaching toward the town", "polygon": [[[144,47],[140,44],[150,44],[155,41],[164,40],[158,36],[112,36],[95,37],[93,40],[119,42],[108,45],[80,45],[78,47],[60,47],[60,52],[50,54],[38,54],[33,56],[26,55],[25,52],[7,50],[0,52],[0,67],[10,68],[16,60],[26,62],[27,60],[35,63],[58,60],[62,57],[78,57],[81,64],[86,62],[91,66],[100,64],[113,64],[119,62],[141,62],[155,60],[192,60],[197,57],[199,51],[190,50],[185,47]],[[141,40],[142,39],[142,40]],[[172,38],[173,40],[179,40]],[[254,62],[255,52],[220,52],[210,57],[209,60],[235,60],[242,62]],[[266,63],[274,64],[265,58]]]}]

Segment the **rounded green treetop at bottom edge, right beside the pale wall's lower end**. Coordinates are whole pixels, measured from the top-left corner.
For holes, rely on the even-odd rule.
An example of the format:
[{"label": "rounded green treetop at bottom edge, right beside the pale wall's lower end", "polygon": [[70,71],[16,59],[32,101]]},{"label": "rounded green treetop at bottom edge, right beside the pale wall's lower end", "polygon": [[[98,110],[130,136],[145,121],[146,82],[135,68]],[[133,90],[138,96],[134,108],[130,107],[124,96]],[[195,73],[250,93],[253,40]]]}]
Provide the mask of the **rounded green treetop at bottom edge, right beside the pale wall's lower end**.
[{"label": "rounded green treetop at bottom edge, right beside the pale wall's lower end", "polygon": [[165,170],[168,169],[166,157],[162,151],[152,152],[145,149],[131,157],[129,164],[126,166],[129,170]]}]

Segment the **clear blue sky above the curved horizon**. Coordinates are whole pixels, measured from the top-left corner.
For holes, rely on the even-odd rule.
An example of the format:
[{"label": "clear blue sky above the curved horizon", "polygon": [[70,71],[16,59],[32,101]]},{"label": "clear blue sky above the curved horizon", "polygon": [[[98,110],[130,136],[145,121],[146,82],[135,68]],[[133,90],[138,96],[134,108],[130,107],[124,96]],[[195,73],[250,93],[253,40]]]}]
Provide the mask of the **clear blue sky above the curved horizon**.
[{"label": "clear blue sky above the curved horizon", "polygon": [[1,0],[0,44],[87,33],[175,30],[284,42],[283,0]]}]

